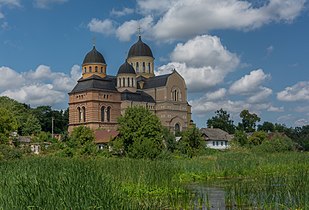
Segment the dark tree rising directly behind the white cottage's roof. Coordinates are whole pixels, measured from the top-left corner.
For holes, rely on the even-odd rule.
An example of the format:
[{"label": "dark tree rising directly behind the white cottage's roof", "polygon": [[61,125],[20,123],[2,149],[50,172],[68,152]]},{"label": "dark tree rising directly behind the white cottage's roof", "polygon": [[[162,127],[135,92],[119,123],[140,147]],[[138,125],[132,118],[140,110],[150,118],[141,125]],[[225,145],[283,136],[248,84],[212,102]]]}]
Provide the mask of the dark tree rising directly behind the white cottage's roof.
[{"label": "dark tree rising directly behind the white cottage's roof", "polygon": [[230,114],[223,109],[217,110],[216,116],[212,117],[211,119],[207,120],[207,127],[214,127],[220,128],[229,134],[235,133],[235,126],[233,120],[230,119]]}]

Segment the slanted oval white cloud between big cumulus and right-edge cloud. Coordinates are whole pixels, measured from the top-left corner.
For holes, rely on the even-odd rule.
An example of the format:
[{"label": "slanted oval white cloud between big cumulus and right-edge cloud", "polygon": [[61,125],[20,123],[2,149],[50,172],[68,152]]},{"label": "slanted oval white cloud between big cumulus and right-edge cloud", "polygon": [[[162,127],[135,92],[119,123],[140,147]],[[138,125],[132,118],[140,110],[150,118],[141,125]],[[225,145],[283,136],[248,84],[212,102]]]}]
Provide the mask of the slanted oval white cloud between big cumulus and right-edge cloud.
[{"label": "slanted oval white cloud between big cumulus and right-edge cloud", "polygon": [[270,78],[269,74],[265,74],[262,69],[251,71],[249,75],[243,76],[234,82],[229,92],[231,94],[248,94],[256,92],[260,85]]}]

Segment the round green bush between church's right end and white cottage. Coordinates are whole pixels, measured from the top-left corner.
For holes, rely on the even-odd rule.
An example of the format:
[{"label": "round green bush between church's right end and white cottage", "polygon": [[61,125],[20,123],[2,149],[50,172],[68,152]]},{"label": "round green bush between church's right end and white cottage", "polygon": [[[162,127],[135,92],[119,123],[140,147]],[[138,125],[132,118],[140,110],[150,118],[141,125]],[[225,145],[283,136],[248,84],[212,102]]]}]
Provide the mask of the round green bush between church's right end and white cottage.
[{"label": "round green bush between church's right end and white cottage", "polygon": [[182,154],[193,157],[201,149],[205,149],[205,142],[200,130],[196,126],[187,128],[187,130],[182,132],[181,140],[178,142],[178,150]]}]

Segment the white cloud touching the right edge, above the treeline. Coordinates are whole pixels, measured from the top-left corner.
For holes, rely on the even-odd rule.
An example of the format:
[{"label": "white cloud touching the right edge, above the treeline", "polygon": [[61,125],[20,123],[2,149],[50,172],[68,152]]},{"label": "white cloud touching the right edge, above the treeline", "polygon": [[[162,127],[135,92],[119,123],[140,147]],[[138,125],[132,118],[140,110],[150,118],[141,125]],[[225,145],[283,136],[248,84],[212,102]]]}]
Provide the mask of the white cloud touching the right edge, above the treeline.
[{"label": "white cloud touching the right edge, above the treeline", "polygon": [[286,87],[277,93],[280,101],[307,101],[309,100],[309,81],[298,82],[291,87]]}]

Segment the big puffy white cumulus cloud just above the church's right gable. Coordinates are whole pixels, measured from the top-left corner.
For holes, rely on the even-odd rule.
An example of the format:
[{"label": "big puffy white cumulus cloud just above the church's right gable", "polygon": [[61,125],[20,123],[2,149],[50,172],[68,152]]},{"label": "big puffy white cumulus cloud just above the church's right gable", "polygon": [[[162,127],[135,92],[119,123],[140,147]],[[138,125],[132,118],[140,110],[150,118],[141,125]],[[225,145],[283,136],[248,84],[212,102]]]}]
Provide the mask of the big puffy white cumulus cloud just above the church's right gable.
[{"label": "big puffy white cumulus cloud just above the church's right gable", "polygon": [[177,44],[171,54],[172,62],[158,68],[157,75],[176,69],[185,79],[190,92],[205,91],[223,82],[235,70],[240,60],[229,52],[216,36],[197,36]]}]

